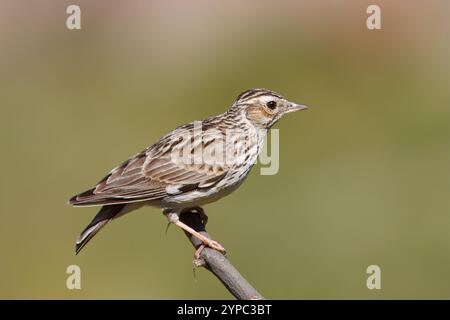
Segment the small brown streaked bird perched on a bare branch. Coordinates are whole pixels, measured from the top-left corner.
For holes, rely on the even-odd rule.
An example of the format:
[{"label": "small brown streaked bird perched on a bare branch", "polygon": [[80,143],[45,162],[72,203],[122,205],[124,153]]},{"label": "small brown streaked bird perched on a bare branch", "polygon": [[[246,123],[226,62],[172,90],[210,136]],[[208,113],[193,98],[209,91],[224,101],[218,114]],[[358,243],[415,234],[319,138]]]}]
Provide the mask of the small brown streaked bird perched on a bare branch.
[{"label": "small brown streaked bird perched on a bare branch", "polygon": [[235,191],[257,161],[268,131],[284,115],[308,109],[268,89],[237,96],[224,113],[182,125],[112,169],[91,189],[69,200],[75,207],[100,206],[81,232],[75,253],[111,220],[143,206],[160,208],[168,219],[202,245],[225,254],[225,248],[180,221],[194,208],[206,224],[202,206]]}]

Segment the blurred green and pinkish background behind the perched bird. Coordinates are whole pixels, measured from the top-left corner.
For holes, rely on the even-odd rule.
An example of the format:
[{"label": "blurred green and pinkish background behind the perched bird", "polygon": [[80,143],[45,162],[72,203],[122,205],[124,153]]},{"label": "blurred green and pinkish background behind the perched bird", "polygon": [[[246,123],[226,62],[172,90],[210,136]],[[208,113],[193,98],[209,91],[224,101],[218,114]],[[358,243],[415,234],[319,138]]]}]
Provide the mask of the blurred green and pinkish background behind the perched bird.
[{"label": "blurred green and pinkish background behind the perched bird", "polygon": [[[66,29],[66,7],[82,29]],[[382,30],[366,28],[381,7]],[[265,296],[450,298],[448,1],[0,1],[0,298],[232,298],[144,208],[79,256],[70,196],[180,124],[266,87],[307,104],[206,207]],[[68,265],[82,289],[66,289]],[[366,268],[381,267],[381,290]]]}]

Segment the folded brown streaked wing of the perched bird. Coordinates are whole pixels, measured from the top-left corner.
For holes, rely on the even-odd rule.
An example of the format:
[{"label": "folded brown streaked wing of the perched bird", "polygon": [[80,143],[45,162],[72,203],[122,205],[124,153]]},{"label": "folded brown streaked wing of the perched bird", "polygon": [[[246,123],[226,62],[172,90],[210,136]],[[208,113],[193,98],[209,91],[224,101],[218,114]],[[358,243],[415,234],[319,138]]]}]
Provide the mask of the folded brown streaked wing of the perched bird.
[{"label": "folded brown streaked wing of the perched bird", "polygon": [[161,199],[212,187],[227,174],[220,132],[194,136],[181,127],[114,168],[93,189],[74,196],[73,205],[104,205]]}]

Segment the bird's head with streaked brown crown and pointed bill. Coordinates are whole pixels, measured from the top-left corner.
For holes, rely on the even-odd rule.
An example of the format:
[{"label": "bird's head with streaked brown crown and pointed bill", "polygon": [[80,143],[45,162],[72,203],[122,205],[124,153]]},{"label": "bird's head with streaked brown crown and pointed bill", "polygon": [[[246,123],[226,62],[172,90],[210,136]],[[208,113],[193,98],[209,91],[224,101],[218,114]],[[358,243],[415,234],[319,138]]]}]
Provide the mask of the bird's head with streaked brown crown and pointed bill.
[{"label": "bird's head with streaked brown crown and pointed bill", "polygon": [[234,107],[244,112],[255,127],[264,129],[270,129],[287,113],[308,109],[267,89],[251,89],[242,92],[236,98]]}]

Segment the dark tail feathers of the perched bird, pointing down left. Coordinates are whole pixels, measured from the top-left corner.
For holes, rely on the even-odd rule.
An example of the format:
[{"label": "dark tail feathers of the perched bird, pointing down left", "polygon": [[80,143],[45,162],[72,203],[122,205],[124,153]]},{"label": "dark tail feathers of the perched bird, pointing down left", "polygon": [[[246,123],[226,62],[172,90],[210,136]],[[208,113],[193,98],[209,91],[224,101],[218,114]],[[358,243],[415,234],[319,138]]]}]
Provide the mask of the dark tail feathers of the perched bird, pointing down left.
[{"label": "dark tail feathers of the perched bird, pointing down left", "polygon": [[91,240],[97,232],[100,231],[111,219],[114,219],[124,208],[124,204],[114,204],[103,206],[91,223],[81,232],[75,244],[75,253],[78,254],[81,249]]}]

